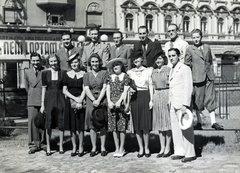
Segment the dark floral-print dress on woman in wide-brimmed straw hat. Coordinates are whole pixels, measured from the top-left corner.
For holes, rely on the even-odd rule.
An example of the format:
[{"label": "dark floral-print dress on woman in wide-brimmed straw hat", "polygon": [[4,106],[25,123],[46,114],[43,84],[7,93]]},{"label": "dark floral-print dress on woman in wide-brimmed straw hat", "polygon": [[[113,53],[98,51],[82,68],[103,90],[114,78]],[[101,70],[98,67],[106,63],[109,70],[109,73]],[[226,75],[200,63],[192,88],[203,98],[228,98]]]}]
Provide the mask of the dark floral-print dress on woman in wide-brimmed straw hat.
[{"label": "dark floral-print dress on woman in wide-brimmed straw hat", "polygon": [[[120,80],[115,74],[108,76],[107,84],[110,85],[110,99],[113,103],[116,103],[121,97],[124,86],[128,86],[130,78],[127,74],[122,73],[123,79]],[[124,108],[124,105],[123,105]],[[114,110],[108,110],[108,131],[125,131],[127,129],[127,118],[124,112]]]}]

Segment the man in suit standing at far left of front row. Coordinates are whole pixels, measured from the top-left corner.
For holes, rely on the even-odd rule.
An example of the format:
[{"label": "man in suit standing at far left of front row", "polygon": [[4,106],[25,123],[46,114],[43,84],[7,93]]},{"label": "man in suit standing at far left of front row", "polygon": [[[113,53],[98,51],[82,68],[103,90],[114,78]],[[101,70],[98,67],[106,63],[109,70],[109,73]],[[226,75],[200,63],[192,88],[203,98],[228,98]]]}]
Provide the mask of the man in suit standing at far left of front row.
[{"label": "man in suit standing at far left of front row", "polygon": [[34,124],[34,117],[41,107],[41,77],[44,67],[41,65],[41,56],[38,53],[32,53],[30,55],[30,62],[30,68],[25,71],[25,89],[28,94],[28,153],[33,154],[41,150],[41,142],[44,140],[44,131],[38,129]]}]

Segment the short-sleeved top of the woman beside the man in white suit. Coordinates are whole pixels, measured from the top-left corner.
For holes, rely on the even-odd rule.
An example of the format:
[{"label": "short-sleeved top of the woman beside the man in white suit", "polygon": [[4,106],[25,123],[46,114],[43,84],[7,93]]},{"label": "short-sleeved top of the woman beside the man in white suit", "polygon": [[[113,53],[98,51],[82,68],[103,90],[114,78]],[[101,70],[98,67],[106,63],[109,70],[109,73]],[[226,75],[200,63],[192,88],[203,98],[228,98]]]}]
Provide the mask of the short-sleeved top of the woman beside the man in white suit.
[{"label": "short-sleeved top of the woman beside the man in white suit", "polygon": [[171,68],[163,66],[160,70],[153,69],[152,80],[155,89],[165,89],[168,87],[168,79]]}]

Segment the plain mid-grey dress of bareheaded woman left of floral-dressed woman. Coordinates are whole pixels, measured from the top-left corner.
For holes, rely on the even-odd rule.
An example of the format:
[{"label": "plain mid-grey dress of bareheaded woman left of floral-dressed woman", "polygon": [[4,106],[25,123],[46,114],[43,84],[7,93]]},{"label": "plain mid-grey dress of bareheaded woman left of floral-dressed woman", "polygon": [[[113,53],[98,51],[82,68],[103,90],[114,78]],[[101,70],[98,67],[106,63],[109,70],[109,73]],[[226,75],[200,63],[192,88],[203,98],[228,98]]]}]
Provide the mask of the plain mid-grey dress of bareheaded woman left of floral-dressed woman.
[{"label": "plain mid-grey dress of bareheaded woman left of floral-dressed woman", "polygon": [[[107,82],[106,70],[99,71],[96,77],[93,75],[92,71],[85,73],[83,76],[84,86],[89,86],[89,89],[92,92],[95,99],[97,99],[98,96],[100,95],[103,84],[106,84],[106,82]],[[106,101],[106,98],[103,98],[101,101],[101,104],[104,104],[105,101]],[[86,97],[86,114],[85,114],[86,130],[94,129],[94,126],[92,124],[92,111],[93,111],[92,100]]]}]

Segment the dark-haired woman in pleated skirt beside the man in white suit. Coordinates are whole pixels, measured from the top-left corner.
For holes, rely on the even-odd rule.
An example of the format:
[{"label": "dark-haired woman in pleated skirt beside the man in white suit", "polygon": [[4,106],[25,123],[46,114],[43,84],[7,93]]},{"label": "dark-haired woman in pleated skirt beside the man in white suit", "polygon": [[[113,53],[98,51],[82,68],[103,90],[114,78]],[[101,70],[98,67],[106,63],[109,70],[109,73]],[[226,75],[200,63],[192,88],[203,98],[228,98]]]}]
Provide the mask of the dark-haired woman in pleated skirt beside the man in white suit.
[{"label": "dark-haired woman in pleated skirt beside the man in white suit", "polygon": [[171,155],[171,120],[169,112],[169,87],[168,78],[170,67],[167,66],[168,59],[164,52],[158,51],[155,54],[155,65],[152,73],[154,94],[153,94],[153,130],[159,131],[161,150],[159,157]]}]

